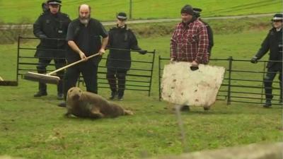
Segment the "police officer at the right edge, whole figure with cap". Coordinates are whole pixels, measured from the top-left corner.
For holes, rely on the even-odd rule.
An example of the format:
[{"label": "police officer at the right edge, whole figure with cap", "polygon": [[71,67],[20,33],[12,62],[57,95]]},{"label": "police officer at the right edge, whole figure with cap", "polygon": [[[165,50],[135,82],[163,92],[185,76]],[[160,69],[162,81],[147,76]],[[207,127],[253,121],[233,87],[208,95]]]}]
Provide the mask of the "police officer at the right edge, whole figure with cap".
[{"label": "police officer at the right edge, whole figure with cap", "polygon": [[267,37],[265,37],[258,53],[250,60],[255,64],[258,59],[261,59],[268,50],[270,50],[270,57],[267,63],[267,73],[263,79],[265,85],[265,105],[263,105],[263,107],[270,107],[272,105],[272,81],[274,80],[277,72],[279,72],[280,102],[282,103],[282,21],[282,13],[277,13],[273,16],[273,28],[267,34]]}]

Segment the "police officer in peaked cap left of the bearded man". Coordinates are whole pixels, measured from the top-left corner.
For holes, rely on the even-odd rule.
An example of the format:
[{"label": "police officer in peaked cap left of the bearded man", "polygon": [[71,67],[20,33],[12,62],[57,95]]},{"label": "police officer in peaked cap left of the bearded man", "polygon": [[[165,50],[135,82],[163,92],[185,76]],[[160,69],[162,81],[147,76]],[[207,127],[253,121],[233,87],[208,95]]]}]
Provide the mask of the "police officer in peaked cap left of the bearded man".
[{"label": "police officer in peaked cap left of the bearded man", "polygon": [[[48,0],[48,10],[42,4],[44,11],[33,24],[33,34],[40,38],[40,44],[37,45],[35,57],[39,58],[37,65],[38,73],[46,73],[46,67],[50,61],[54,59],[56,69],[61,68],[66,64],[64,49],[67,43],[64,38],[67,35],[67,28],[71,22],[69,16],[60,12],[60,0]],[[59,40],[61,39],[61,40]],[[62,78],[64,71],[57,73],[57,76]],[[41,97],[47,95],[47,86],[45,83],[39,83],[39,91],[34,97]],[[59,81],[57,86],[57,98],[63,99],[63,83]]]}]

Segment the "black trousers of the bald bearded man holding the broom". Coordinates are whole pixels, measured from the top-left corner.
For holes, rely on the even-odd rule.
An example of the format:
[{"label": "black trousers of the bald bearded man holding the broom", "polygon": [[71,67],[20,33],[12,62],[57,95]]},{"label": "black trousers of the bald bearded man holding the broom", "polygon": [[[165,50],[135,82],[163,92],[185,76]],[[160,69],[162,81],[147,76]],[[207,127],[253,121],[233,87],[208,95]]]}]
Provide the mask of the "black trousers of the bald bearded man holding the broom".
[{"label": "black trousers of the bald bearded man holding the broom", "polygon": [[93,61],[84,61],[81,64],[71,66],[67,69],[64,76],[64,99],[67,99],[69,88],[75,87],[79,79],[80,73],[83,76],[83,81],[86,83],[86,91],[98,93],[97,73],[98,65]]}]

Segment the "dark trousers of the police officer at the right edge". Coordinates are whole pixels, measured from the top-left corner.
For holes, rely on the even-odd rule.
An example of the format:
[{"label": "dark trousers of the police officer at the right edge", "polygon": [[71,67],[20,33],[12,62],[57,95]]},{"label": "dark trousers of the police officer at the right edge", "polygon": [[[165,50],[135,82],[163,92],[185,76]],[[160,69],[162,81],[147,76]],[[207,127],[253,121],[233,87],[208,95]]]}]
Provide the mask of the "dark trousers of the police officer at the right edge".
[{"label": "dark trousers of the police officer at the right edge", "polygon": [[265,98],[267,100],[272,100],[272,82],[279,72],[279,86],[280,86],[280,100],[282,100],[282,68],[268,68],[263,82],[265,84]]}]

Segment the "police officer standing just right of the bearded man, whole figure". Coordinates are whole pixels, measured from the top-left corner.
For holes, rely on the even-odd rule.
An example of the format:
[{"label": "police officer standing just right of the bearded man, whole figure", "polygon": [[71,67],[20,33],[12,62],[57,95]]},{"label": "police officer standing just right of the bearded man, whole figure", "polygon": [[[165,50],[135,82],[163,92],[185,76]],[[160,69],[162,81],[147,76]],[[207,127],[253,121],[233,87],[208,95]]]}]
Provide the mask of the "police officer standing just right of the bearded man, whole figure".
[{"label": "police officer standing just right of the bearded man, whole figure", "polygon": [[[108,48],[110,53],[107,59],[106,78],[110,85],[110,100],[123,99],[126,83],[126,74],[131,66],[130,49],[139,50],[140,54],[146,54],[146,50],[141,50],[137,45],[137,38],[132,30],[125,24],[127,14],[120,12],[117,14],[117,25],[109,31]],[[117,88],[118,84],[118,88]]]}]

